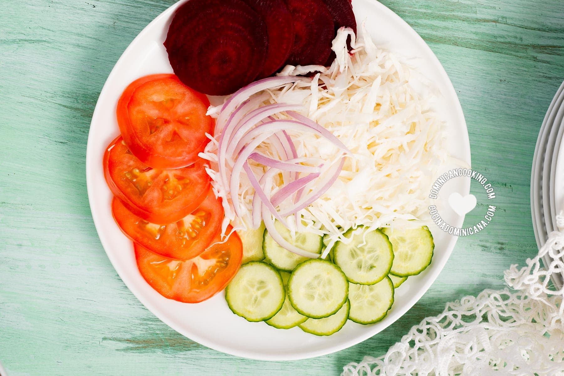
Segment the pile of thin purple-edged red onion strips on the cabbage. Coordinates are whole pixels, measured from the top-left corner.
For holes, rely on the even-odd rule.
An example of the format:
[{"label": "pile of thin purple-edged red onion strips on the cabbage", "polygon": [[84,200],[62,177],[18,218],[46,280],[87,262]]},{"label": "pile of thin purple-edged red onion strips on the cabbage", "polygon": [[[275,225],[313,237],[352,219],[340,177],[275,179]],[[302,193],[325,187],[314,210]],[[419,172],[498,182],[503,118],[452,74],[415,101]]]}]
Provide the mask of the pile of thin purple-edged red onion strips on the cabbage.
[{"label": "pile of thin purple-edged red onion strips on the cabbage", "polygon": [[[215,134],[221,134],[218,143],[218,164],[224,187],[228,189],[228,192],[234,193],[234,197],[238,198],[240,174],[242,170],[244,170],[255,190],[252,212],[253,226],[258,227],[262,218],[268,232],[278,244],[298,255],[318,258],[319,254],[299,249],[284,240],[280,233],[276,231],[273,217],[284,223],[284,218],[290,214],[294,214],[296,215],[296,223],[298,223],[299,217],[301,217],[298,216],[298,211],[307,207],[315,200],[318,200],[319,197],[327,192],[340,175],[345,157],[343,156],[341,158],[339,165],[331,167],[329,170],[331,172],[328,171],[327,174],[321,176],[319,182],[312,183],[320,176],[319,168],[299,164],[302,160],[298,158],[296,146],[286,130],[299,132],[314,131],[320,136],[327,138],[338,148],[348,153],[350,153],[350,151],[330,131],[309,118],[295,112],[302,108],[302,104],[272,104],[257,108],[258,105],[268,98],[268,94],[249,99],[254,94],[257,94],[257,92],[265,89],[273,89],[281,85],[286,85],[287,83],[310,79],[311,78],[297,76],[269,77],[253,82],[243,89],[240,89],[223,104],[216,122]],[[272,115],[284,111],[296,119],[296,121],[275,120],[272,117]],[[271,121],[264,122],[267,118]],[[280,135],[277,133],[280,133]],[[273,135],[274,137],[271,143],[273,147],[277,149],[280,158],[285,158],[285,160],[276,160],[275,158],[254,152],[259,144]],[[235,157],[235,155],[237,157]],[[231,160],[236,158],[231,171],[227,169],[227,157],[230,157]],[[250,168],[248,159],[270,167],[266,173],[261,176],[261,179],[257,180],[257,177]],[[279,191],[270,197],[272,179],[280,172],[283,173],[284,182],[289,183],[285,184],[284,187],[280,188]],[[299,172],[309,173],[309,175],[298,178]],[[292,178],[287,179],[287,174],[293,176],[293,181],[290,182]],[[302,198],[301,196],[304,189],[310,189],[307,187],[311,184],[314,184],[312,187],[321,186],[321,188],[314,189],[314,192]],[[294,193],[296,193],[296,196],[294,197],[293,207],[288,210],[288,213],[279,213],[276,210],[276,206]],[[231,201],[235,214],[240,217],[241,203],[239,200]]]}]

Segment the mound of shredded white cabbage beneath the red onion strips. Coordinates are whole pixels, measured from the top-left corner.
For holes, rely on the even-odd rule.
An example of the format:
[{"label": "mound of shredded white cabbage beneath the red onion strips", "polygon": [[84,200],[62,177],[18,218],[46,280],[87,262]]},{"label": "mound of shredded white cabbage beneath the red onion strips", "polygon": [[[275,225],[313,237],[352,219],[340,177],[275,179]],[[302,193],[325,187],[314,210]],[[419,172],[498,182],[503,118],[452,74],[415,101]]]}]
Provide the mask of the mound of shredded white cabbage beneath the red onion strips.
[{"label": "mound of shredded white cabbage beneath the red onion strips", "polygon": [[[353,50],[347,50],[351,38]],[[421,225],[414,219],[428,219],[428,194],[439,166],[447,159],[442,122],[431,110],[432,95],[422,98],[410,85],[412,70],[400,63],[389,51],[377,48],[368,33],[355,40],[351,29],[341,28],[333,41],[336,60],[331,68],[315,74],[310,82],[299,81],[263,91],[271,103],[302,103],[299,113],[318,122],[340,139],[352,154],[332,187],[313,204],[301,210],[302,225],[308,231],[329,234],[329,245],[349,228],[365,225],[381,228],[389,225],[407,227]],[[320,67],[286,67],[281,74],[303,74]],[[209,113],[217,116],[218,107]],[[277,114],[274,118],[289,118]],[[342,152],[329,141],[313,132],[288,132],[296,145],[298,156],[311,158],[316,165],[323,160],[321,170],[327,172],[340,162]],[[254,189],[243,173],[237,197],[228,193],[218,175],[217,140],[213,139],[202,153],[211,163],[208,173],[213,179],[215,193],[222,197],[226,222],[238,228],[252,223],[251,210]],[[257,148],[259,153],[283,159],[270,140]],[[231,157],[227,166],[233,166]],[[252,170],[261,176],[265,167],[249,161]],[[286,175],[288,176],[288,175]],[[275,176],[274,194],[284,183],[283,174]],[[313,190],[315,181],[306,187]],[[236,218],[229,202],[241,202],[244,214]],[[287,200],[279,206],[280,212],[292,206]],[[294,220],[288,220],[292,232]],[[329,248],[329,247],[328,247]]]}]

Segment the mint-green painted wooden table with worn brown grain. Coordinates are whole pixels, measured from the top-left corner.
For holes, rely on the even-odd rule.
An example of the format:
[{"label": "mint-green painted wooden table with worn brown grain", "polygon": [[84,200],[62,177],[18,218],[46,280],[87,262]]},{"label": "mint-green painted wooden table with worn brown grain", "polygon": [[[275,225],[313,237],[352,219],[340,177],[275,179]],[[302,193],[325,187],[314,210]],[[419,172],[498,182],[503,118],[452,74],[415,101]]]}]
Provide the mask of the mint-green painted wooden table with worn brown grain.
[{"label": "mint-green painted wooden table with worn brown grain", "polygon": [[[464,109],[475,170],[499,210],[460,238],[402,319],[332,355],[240,359],[182,337],[147,311],[100,245],[86,196],[96,99],[136,34],[174,0],[2,0],[0,11],[0,361],[19,375],[339,374],[382,355],[444,303],[502,287],[536,253],[530,171],[564,79],[561,0],[385,0],[433,48]],[[481,187],[473,182],[472,192]],[[479,200],[478,200],[479,201]],[[466,220],[482,216],[477,207]]]}]

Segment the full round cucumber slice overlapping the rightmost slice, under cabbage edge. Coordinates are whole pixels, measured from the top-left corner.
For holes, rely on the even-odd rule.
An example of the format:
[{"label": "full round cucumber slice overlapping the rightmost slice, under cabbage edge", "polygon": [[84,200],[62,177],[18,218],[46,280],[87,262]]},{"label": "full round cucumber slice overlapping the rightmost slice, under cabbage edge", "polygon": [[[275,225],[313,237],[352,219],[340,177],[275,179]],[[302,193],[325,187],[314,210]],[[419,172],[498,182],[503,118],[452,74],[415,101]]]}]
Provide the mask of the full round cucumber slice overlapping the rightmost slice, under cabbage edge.
[{"label": "full round cucumber slice overlapping the rightmost slice, under cabbage edge", "polygon": [[380,230],[359,227],[347,231],[345,237],[350,242],[337,242],[333,262],[342,269],[347,279],[362,285],[373,285],[383,280],[390,272],[394,260],[394,252],[387,236]]}]

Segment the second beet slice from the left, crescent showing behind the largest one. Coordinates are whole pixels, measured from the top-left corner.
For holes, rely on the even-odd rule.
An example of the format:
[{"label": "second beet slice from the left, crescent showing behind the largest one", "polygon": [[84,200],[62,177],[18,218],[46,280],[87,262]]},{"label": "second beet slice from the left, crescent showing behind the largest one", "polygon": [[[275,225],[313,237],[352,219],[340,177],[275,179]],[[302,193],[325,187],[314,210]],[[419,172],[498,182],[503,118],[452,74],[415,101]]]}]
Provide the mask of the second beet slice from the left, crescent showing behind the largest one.
[{"label": "second beet slice from the left, crescent showing behind the largest one", "polygon": [[265,21],[268,49],[258,78],[270,76],[282,67],[294,45],[294,21],[284,0],[243,0]]}]

